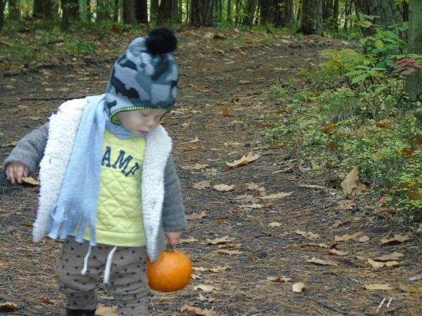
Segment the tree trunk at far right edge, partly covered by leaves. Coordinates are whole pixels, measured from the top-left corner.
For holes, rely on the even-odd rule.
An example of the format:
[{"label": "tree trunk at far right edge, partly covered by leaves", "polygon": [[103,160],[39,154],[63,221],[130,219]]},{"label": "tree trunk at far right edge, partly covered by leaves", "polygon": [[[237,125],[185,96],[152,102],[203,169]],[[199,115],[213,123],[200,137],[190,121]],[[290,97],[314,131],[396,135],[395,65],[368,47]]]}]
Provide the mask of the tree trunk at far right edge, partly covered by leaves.
[{"label": "tree trunk at far right edge, partly covered by leaves", "polygon": [[[409,53],[422,54],[422,1],[409,1]],[[406,77],[406,91],[411,101],[422,101],[422,71]]]}]

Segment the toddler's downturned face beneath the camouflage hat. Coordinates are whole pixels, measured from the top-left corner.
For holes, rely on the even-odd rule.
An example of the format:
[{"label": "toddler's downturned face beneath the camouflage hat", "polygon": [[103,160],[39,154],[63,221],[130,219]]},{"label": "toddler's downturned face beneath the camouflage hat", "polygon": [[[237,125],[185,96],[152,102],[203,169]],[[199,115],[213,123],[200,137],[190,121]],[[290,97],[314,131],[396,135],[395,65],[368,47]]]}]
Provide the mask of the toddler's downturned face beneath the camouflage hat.
[{"label": "toddler's downturned face beneath the camouflage hat", "polygon": [[116,114],[123,127],[134,135],[145,135],[158,126],[165,110],[135,110],[123,111]]}]

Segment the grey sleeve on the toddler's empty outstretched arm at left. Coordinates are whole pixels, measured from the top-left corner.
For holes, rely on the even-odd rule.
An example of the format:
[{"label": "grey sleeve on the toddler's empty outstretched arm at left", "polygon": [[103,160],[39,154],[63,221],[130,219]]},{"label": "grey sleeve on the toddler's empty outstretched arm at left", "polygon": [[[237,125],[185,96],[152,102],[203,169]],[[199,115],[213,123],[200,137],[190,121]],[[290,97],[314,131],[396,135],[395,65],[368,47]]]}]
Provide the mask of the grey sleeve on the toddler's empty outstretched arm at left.
[{"label": "grey sleeve on the toddler's empty outstretched arm at left", "polygon": [[29,173],[32,174],[43,157],[47,138],[48,123],[22,137],[6,160],[4,160],[4,170],[6,170],[9,163],[15,162],[25,165],[29,169]]}]

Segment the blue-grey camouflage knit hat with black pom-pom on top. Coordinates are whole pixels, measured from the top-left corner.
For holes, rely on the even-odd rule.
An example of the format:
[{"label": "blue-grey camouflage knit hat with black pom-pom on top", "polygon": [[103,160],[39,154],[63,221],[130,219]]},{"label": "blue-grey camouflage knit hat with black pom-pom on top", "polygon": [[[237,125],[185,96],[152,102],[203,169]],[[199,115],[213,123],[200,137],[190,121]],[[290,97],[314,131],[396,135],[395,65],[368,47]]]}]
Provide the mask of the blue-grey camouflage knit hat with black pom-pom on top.
[{"label": "blue-grey camouflage knit hat with black pom-pom on top", "polygon": [[120,124],[121,111],[161,109],[170,111],[176,102],[179,71],[170,54],[177,47],[172,30],[159,27],[147,37],[130,43],[114,63],[107,84],[106,105],[110,121]]}]

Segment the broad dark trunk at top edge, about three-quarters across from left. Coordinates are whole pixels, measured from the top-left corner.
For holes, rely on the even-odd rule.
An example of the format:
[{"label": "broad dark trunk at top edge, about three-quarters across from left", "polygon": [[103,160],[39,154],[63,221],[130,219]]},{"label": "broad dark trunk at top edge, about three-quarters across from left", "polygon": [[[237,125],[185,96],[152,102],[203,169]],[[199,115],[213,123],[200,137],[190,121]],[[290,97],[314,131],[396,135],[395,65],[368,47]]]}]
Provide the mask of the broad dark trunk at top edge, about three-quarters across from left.
[{"label": "broad dark trunk at top edge, about three-quarters across from left", "polygon": [[304,0],[301,27],[298,32],[322,36],[322,0]]}]

